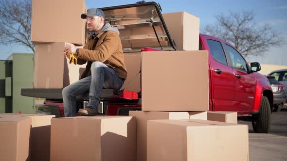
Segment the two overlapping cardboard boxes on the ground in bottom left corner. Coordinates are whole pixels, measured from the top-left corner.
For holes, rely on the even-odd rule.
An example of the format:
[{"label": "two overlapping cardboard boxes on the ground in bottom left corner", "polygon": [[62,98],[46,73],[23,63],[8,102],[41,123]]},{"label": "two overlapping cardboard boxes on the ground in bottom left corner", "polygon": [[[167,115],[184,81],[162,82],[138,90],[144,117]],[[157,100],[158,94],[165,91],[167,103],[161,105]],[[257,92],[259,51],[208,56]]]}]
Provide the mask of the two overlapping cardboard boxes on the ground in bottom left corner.
[{"label": "two overlapping cardboard boxes on the ground in bottom left corner", "polygon": [[0,145],[0,161],[50,161],[53,117],[43,114],[0,114],[0,139],[3,143]]}]

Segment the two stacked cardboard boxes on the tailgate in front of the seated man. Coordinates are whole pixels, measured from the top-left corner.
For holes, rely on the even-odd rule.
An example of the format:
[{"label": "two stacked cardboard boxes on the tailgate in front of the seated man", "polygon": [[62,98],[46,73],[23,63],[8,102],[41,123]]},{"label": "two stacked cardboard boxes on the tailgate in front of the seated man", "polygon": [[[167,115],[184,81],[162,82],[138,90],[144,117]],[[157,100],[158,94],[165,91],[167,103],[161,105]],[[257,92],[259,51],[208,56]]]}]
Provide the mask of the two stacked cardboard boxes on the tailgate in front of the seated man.
[{"label": "two stacked cardboard boxes on the tailgate in front of the seated man", "polygon": [[31,40],[35,44],[34,88],[63,88],[78,81],[86,65],[69,64],[64,47],[86,41],[85,0],[32,0]]}]

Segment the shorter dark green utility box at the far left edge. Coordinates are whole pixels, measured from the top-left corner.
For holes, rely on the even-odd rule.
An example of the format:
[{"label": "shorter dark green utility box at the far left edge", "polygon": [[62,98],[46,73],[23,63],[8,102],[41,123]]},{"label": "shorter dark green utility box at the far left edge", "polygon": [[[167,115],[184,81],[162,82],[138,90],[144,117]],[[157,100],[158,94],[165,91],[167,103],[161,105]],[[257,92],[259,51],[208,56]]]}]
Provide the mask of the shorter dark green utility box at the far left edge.
[{"label": "shorter dark green utility box at the far left edge", "polygon": [[12,65],[0,60],[0,113],[12,113]]}]

